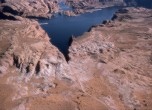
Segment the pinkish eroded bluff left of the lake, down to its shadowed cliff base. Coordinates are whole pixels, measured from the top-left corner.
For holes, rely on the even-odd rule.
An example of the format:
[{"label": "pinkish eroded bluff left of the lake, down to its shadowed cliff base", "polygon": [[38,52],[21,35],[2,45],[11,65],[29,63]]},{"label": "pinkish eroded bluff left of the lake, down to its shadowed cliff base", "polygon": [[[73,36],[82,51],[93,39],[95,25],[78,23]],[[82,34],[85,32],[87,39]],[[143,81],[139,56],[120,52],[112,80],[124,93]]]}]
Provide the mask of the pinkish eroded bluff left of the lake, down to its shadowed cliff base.
[{"label": "pinkish eroded bluff left of the lake, down to its shadowed cliff base", "polygon": [[64,63],[66,64],[64,56],[50,44],[49,37],[36,21],[1,20],[0,23],[2,74],[14,65],[24,75],[49,77],[52,73],[59,72]]}]

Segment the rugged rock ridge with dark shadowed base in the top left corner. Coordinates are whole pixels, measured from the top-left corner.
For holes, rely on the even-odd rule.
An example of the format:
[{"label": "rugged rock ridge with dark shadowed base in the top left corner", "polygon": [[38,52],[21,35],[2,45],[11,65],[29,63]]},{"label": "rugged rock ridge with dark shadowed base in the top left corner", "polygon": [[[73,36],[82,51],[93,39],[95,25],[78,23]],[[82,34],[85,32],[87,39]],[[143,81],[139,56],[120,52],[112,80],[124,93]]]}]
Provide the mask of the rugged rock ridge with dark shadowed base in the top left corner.
[{"label": "rugged rock ridge with dark shadowed base in the top left corner", "polygon": [[49,18],[59,10],[56,0],[5,0],[1,1],[3,14],[31,18]]}]

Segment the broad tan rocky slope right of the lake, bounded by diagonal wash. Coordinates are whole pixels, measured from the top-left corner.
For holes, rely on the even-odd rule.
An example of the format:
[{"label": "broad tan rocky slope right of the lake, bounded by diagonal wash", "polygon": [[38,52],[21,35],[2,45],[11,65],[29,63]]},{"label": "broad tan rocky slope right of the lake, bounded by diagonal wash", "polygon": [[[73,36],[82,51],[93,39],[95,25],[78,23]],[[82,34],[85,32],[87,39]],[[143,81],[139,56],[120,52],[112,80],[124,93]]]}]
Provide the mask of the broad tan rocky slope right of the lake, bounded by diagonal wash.
[{"label": "broad tan rocky slope right of the lake, bounded by diagonal wash", "polygon": [[69,65],[82,90],[109,110],[150,110],[152,11],[123,9],[73,39]]}]

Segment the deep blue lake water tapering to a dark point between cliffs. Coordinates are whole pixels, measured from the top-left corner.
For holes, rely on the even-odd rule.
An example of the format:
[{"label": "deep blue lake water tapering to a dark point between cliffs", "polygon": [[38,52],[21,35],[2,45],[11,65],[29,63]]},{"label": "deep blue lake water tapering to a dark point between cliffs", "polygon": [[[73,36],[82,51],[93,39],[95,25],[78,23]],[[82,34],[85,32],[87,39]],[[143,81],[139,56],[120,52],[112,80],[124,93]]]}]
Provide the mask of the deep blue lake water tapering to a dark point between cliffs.
[{"label": "deep blue lake water tapering to a dark point between cliffs", "polygon": [[51,37],[52,44],[67,55],[69,39],[72,35],[80,36],[91,26],[101,24],[104,20],[110,20],[118,9],[120,7],[110,7],[76,17],[56,15],[50,20],[39,20],[39,23],[43,24],[41,26]]}]

